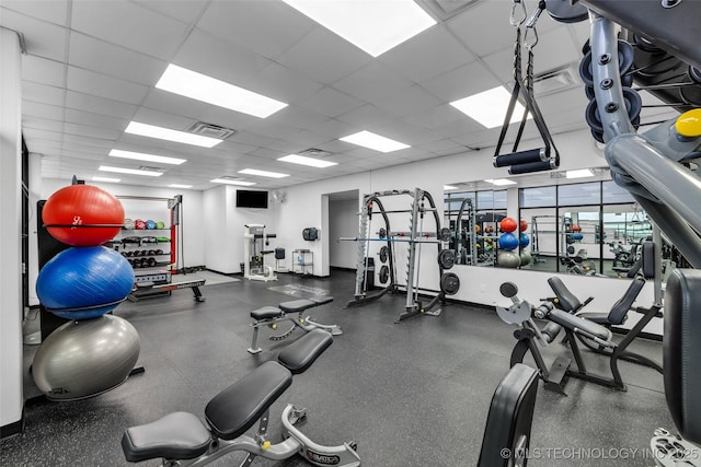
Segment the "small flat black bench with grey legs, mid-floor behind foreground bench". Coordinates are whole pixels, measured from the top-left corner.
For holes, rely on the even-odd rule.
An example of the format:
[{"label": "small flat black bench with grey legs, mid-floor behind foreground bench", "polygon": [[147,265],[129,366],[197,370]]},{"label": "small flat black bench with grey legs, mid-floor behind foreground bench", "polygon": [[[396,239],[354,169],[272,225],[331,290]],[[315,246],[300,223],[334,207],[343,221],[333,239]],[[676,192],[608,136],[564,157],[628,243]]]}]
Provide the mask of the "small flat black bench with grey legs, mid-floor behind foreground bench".
[{"label": "small flat black bench with grey legs, mid-floor behind foreground bench", "polygon": [[[249,353],[255,354],[263,350],[258,346],[258,330],[261,327],[267,326],[271,329],[277,329],[278,323],[281,322],[290,322],[291,327],[280,335],[271,336],[271,340],[283,340],[289,337],[297,327],[306,332],[309,332],[312,329],[324,329],[334,336],[342,335],[343,330],[336,325],[322,325],[312,320],[310,316],[302,317],[302,313],[307,310],[313,308],[314,306],[325,305],[331,302],[333,302],[333,296],[315,295],[309,299],[283,302],[277,306],[263,306],[252,311],[251,317],[254,319],[251,324],[253,327],[253,340],[251,341],[251,347],[248,349]],[[297,316],[292,316],[295,313]]]}]

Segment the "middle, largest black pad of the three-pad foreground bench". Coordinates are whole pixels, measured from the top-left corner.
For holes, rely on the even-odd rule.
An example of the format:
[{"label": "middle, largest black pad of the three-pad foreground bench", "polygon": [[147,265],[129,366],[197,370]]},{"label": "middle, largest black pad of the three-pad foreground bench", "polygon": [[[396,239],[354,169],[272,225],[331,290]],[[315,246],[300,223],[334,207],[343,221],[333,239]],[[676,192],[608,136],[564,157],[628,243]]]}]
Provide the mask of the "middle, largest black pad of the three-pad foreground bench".
[{"label": "middle, largest black pad of the three-pad foreground bench", "polygon": [[217,394],[205,408],[211,432],[223,440],[239,437],[292,384],[292,374],[277,362],[257,366]]}]

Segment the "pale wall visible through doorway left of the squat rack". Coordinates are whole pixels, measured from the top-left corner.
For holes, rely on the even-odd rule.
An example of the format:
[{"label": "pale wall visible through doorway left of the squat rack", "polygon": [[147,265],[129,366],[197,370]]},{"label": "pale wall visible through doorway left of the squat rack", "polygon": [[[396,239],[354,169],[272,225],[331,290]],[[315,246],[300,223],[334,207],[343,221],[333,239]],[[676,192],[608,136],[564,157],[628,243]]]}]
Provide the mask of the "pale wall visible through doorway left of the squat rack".
[{"label": "pale wall visible through doorway left of the squat rack", "polygon": [[358,235],[358,199],[329,202],[329,265],[333,268],[357,266],[358,248],[355,242],[340,242],[342,236]]}]

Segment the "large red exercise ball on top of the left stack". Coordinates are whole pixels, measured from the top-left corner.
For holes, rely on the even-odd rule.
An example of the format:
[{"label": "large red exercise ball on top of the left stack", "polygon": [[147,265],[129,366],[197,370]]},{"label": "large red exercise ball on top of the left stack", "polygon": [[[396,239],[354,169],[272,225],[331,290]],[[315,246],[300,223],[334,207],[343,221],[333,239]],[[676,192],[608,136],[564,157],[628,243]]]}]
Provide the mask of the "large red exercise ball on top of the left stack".
[{"label": "large red exercise ball on top of the left stack", "polygon": [[48,233],[59,242],[71,246],[97,246],[119,232],[124,224],[124,207],[102,188],[70,185],[48,198],[42,220]]}]

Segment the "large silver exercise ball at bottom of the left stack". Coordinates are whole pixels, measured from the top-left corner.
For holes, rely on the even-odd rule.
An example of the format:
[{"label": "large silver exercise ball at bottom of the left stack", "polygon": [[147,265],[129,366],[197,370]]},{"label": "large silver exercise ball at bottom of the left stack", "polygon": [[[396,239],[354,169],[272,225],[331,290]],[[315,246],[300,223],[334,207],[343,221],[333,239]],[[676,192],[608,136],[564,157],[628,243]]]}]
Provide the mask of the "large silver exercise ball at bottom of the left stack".
[{"label": "large silver exercise ball at bottom of the left stack", "polygon": [[32,363],[36,386],[51,400],[96,396],[120,385],[139,358],[139,334],[113,315],[73,320],[51,332]]}]

